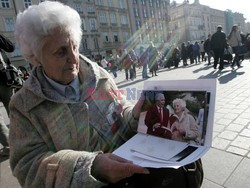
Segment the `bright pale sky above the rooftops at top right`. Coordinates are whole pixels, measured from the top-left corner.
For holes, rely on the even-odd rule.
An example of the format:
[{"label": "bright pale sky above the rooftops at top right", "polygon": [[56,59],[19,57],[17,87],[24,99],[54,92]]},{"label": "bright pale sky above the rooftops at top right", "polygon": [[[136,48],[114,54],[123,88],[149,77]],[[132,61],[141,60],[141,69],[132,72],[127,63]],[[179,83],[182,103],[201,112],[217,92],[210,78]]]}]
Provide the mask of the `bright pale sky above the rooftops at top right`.
[{"label": "bright pale sky above the rooftops at top right", "polygon": [[[172,2],[173,0],[171,0]],[[175,0],[177,3],[182,3],[184,0]],[[189,0],[193,3],[194,0]],[[200,0],[200,4],[207,5],[218,10],[232,10],[232,12],[239,12],[244,15],[247,22],[250,22],[250,1],[249,0]]]}]

